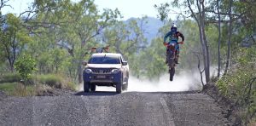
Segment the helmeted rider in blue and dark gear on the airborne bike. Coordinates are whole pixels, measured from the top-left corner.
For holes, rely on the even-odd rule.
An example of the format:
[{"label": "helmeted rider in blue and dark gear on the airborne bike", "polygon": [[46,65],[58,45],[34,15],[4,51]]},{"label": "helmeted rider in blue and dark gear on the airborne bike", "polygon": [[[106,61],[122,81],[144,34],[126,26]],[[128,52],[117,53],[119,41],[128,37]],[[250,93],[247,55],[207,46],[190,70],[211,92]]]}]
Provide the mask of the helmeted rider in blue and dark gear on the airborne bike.
[{"label": "helmeted rider in blue and dark gear on the airborne bike", "polygon": [[[169,41],[166,42],[167,37],[169,37]],[[178,37],[182,38],[182,42],[177,42]],[[178,64],[178,58],[179,58],[179,44],[184,43],[184,36],[180,31],[177,31],[177,26],[175,24],[172,24],[171,31],[168,31],[166,33],[166,36],[164,37],[164,45],[169,45],[170,43],[177,43],[176,44],[176,53],[175,53],[175,63]],[[167,52],[168,49],[166,49],[166,64],[168,63],[167,60]]]}]

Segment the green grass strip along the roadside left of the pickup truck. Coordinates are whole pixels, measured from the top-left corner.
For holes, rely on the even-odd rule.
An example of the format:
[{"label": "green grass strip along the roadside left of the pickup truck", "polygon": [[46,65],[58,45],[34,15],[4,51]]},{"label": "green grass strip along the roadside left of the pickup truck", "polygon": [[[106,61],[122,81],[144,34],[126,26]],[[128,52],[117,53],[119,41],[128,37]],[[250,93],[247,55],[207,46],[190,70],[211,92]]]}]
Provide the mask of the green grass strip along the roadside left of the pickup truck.
[{"label": "green grass strip along the roadside left of the pickup truck", "polygon": [[75,90],[77,85],[72,79],[56,74],[34,75],[30,82],[20,83],[18,74],[6,74],[1,76],[0,90],[5,94],[14,96],[33,96],[52,93],[54,89]]}]

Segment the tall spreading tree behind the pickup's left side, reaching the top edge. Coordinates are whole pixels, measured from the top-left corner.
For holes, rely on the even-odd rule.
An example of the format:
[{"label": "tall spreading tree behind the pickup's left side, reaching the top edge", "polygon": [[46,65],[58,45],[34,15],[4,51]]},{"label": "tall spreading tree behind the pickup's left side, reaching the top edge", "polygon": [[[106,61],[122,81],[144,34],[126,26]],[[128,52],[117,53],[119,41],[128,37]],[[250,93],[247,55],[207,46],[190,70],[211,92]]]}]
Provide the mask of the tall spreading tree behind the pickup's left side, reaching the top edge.
[{"label": "tall spreading tree behind the pickup's left side, reaching the top edge", "polygon": [[[49,49],[56,45],[67,49],[71,58],[74,77],[82,82],[82,61],[89,49],[96,44],[96,37],[102,30],[114,23],[119,18],[119,10],[104,9],[99,13],[92,0],[81,0],[72,3],[70,0],[63,1],[35,1],[35,9],[38,12],[35,19],[26,21],[33,34],[42,37],[48,33],[54,36],[49,43]],[[44,39],[43,39],[44,40]]]}]

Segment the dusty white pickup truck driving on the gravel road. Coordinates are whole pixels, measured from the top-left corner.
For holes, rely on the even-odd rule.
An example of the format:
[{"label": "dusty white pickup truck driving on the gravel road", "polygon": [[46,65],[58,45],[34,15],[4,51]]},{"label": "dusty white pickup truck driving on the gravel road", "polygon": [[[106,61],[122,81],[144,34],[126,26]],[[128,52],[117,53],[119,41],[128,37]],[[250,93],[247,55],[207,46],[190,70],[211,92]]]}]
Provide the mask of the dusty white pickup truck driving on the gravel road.
[{"label": "dusty white pickup truck driving on the gravel road", "polygon": [[129,65],[122,54],[97,53],[90,56],[84,68],[84,92],[97,86],[113,86],[117,93],[128,88]]}]

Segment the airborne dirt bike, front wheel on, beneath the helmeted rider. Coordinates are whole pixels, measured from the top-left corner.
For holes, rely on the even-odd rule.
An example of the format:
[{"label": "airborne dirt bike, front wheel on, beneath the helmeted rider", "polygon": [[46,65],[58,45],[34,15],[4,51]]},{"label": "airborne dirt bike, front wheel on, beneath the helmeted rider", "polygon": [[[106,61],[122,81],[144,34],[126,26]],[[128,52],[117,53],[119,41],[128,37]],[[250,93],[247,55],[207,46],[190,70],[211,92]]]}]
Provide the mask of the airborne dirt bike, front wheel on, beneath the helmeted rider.
[{"label": "airborne dirt bike, front wheel on, beneath the helmeted rider", "polygon": [[167,65],[169,66],[169,73],[170,73],[170,81],[172,82],[173,76],[175,74],[175,58],[176,58],[176,53],[177,49],[175,48],[176,45],[179,43],[165,43],[165,46],[167,48]]}]

